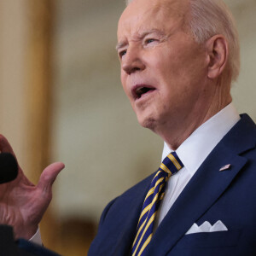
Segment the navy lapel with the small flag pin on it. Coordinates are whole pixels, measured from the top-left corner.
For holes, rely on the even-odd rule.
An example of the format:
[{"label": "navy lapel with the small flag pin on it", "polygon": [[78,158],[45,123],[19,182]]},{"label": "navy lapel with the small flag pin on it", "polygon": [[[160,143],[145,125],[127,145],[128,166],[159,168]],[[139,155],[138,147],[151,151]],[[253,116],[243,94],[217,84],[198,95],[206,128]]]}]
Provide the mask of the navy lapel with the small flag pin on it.
[{"label": "navy lapel with the small flag pin on it", "polygon": [[[166,255],[218,200],[247,163],[247,159],[239,154],[255,148],[255,130],[253,121],[243,116],[218,143],[163,219],[146,248],[146,255]],[[231,164],[230,170],[219,172],[227,164]]]}]

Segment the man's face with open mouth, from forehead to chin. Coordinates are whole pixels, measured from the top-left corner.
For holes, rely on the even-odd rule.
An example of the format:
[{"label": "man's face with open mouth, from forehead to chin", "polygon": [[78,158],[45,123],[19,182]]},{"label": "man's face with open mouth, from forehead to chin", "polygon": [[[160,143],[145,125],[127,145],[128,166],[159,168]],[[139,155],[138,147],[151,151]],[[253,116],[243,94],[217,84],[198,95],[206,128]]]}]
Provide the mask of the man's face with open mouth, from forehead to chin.
[{"label": "man's face with open mouth, from forehead to chin", "polygon": [[204,105],[207,55],[184,24],[188,9],[189,0],[133,0],[119,19],[122,84],[139,123],[157,133]]}]

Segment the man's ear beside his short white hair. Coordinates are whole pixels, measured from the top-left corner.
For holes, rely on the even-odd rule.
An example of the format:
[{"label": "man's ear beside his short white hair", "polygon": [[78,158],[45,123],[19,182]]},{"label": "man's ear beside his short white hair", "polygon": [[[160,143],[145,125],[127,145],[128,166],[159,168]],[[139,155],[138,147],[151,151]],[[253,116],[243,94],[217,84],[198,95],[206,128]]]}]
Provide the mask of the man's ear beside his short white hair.
[{"label": "man's ear beside his short white hair", "polygon": [[207,40],[208,78],[216,79],[226,67],[229,48],[223,35],[215,35]]}]

